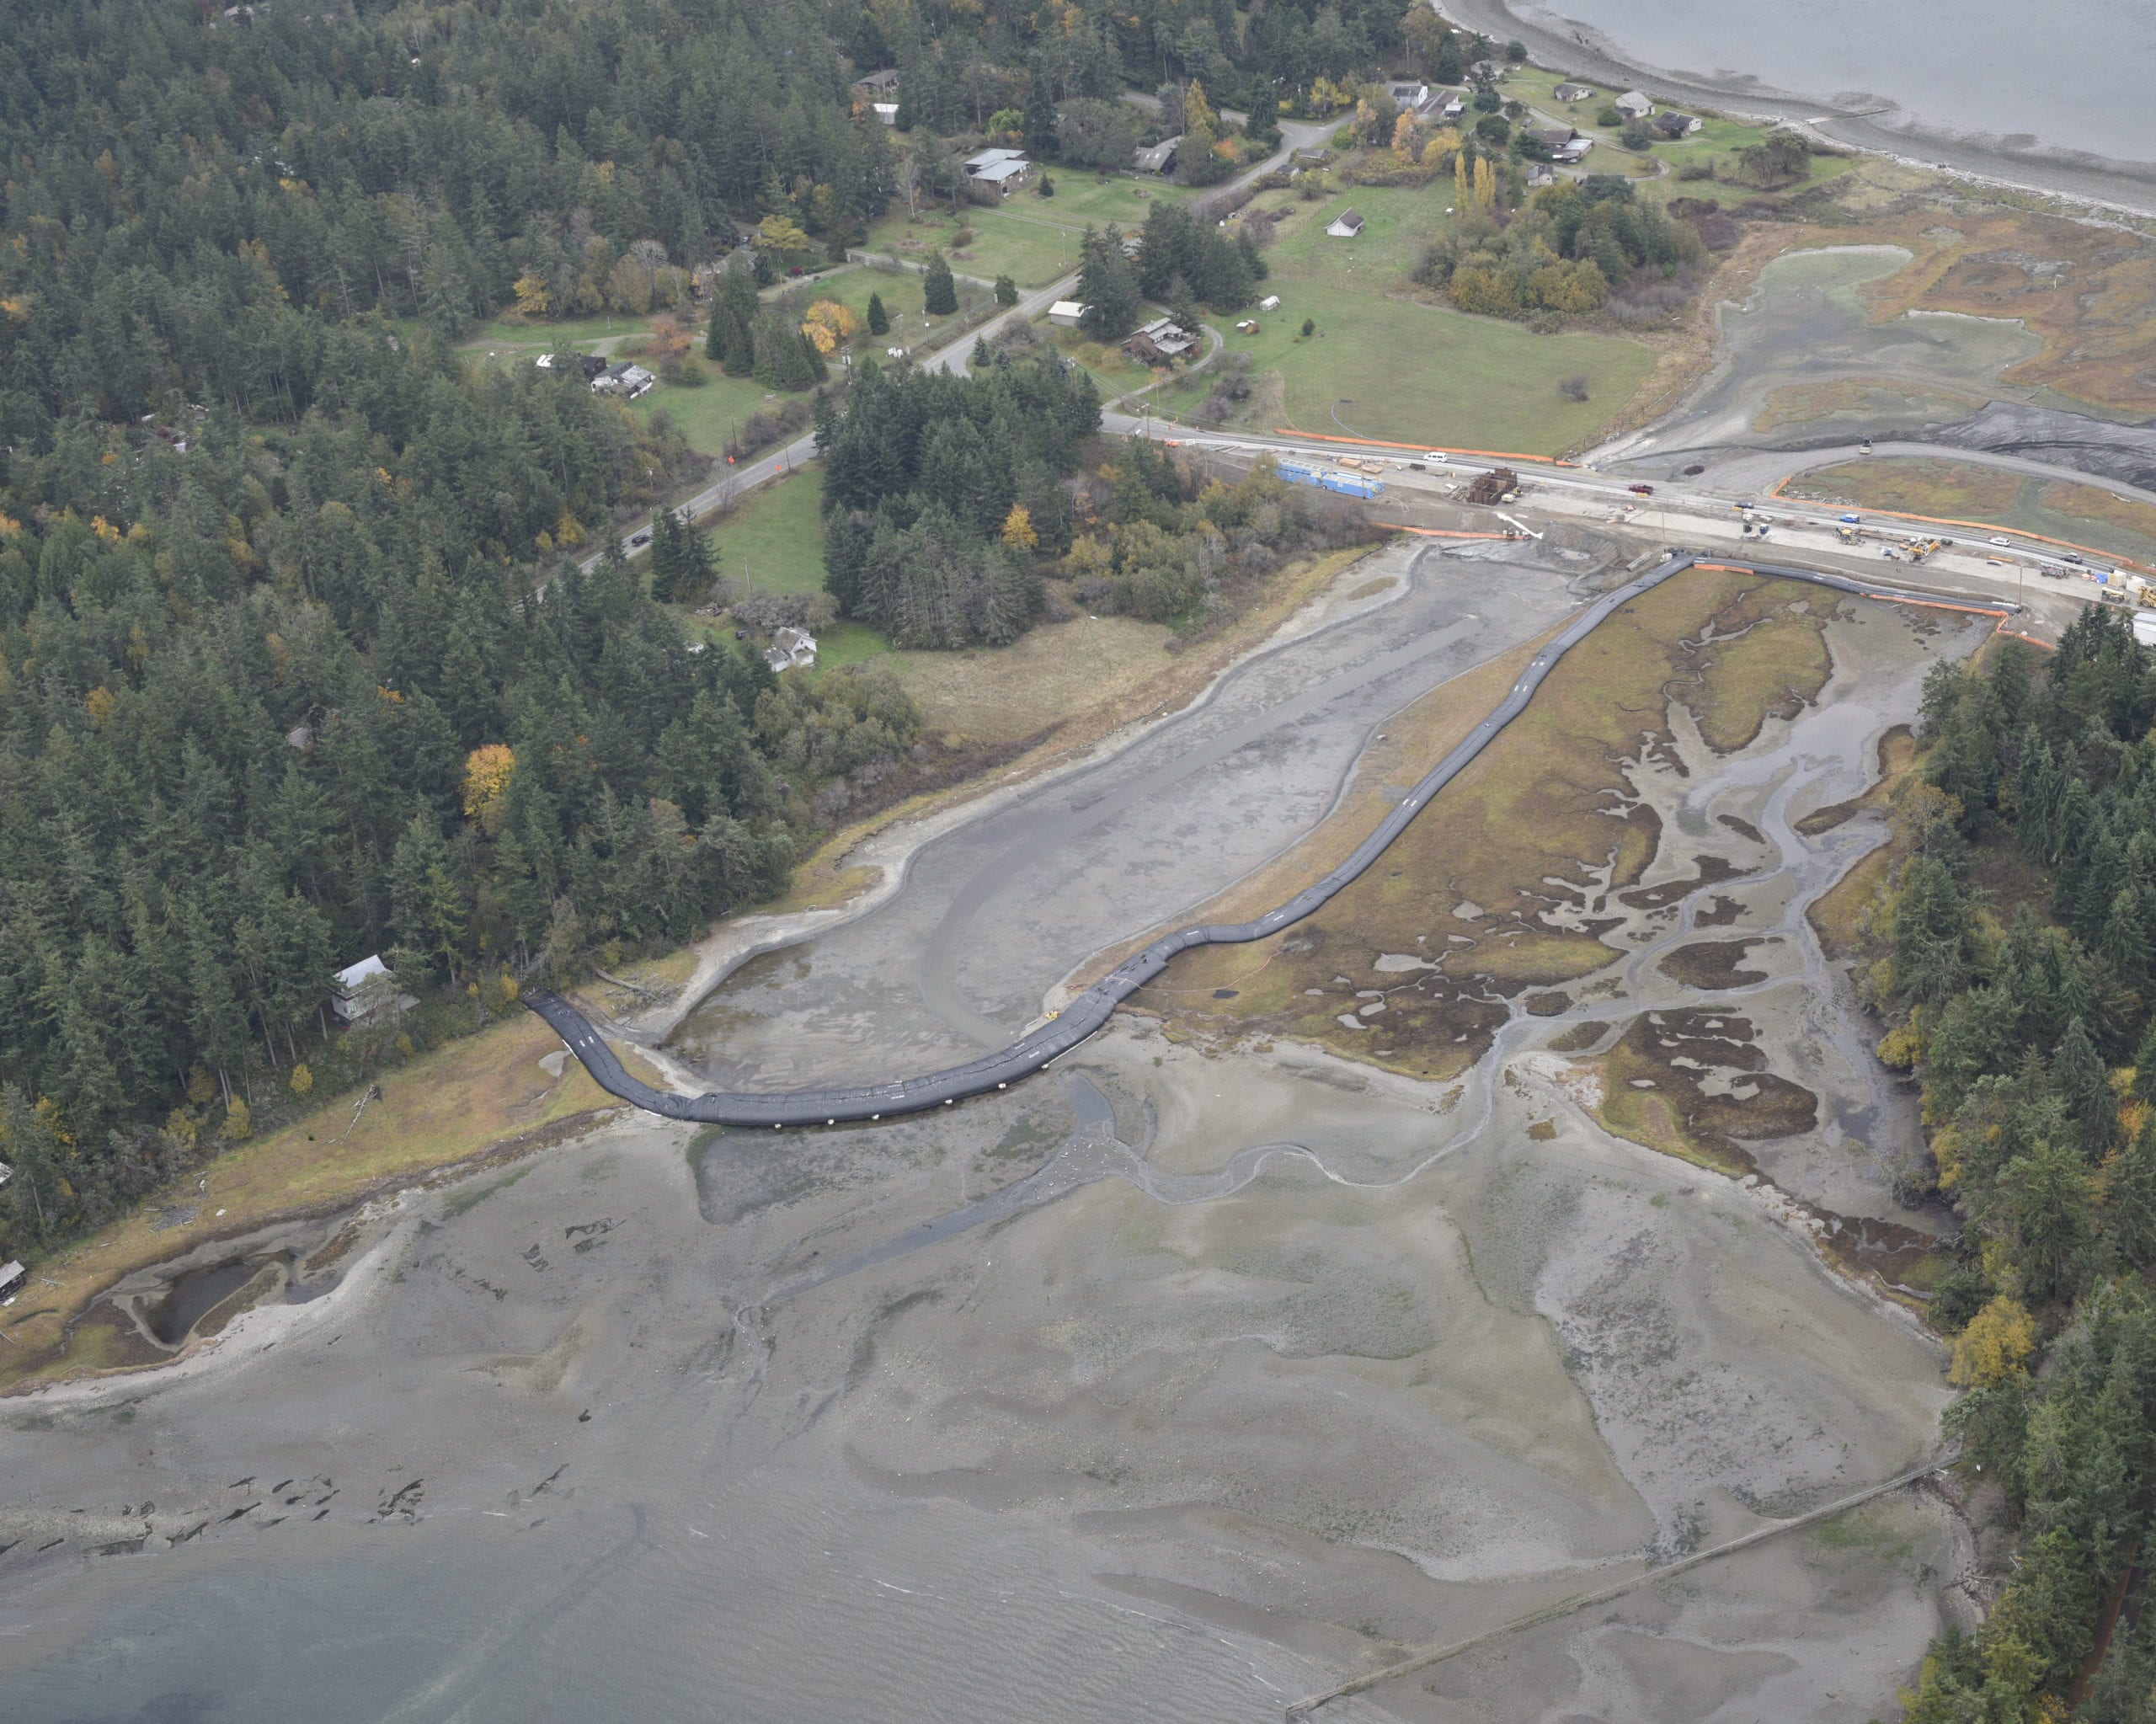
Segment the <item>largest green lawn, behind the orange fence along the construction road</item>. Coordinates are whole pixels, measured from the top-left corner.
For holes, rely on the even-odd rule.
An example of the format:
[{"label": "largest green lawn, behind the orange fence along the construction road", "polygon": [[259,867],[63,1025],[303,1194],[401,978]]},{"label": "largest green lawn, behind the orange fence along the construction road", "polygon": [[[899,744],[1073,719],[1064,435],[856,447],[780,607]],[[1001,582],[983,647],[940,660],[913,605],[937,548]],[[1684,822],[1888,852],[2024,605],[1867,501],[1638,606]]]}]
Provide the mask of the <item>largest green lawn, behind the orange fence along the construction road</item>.
[{"label": "largest green lawn, behind the orange fence along the construction road", "polygon": [[[1408,297],[1408,276],[1445,226],[1451,196],[1451,179],[1438,179],[1287,203],[1294,213],[1268,252],[1261,289],[1279,293],[1281,308],[1250,312],[1255,336],[1227,330],[1227,351],[1250,356],[1253,379],[1279,373],[1283,422],[1296,431],[1518,455],[1591,442],[1654,369],[1654,349],[1602,334],[1539,336]],[[1365,218],[1360,237],[1328,237],[1345,209]],[[1307,317],[1317,328],[1302,338]],[[1587,401],[1559,394],[1565,377],[1587,379]],[[1201,377],[1173,401],[1190,405],[1205,388]]]}]

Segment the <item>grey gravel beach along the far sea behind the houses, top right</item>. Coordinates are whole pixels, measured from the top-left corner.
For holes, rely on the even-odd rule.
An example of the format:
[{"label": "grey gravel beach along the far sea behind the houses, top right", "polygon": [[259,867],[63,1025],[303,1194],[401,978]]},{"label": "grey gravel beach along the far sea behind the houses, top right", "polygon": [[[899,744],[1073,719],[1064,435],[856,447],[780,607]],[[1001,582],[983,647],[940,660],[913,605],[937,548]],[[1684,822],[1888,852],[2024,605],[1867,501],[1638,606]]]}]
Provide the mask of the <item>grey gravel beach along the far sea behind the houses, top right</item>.
[{"label": "grey gravel beach along the far sea behind the houses, top right", "polygon": [[[2014,151],[1981,134],[1925,127],[1902,108],[1884,112],[1835,97],[1779,91],[1753,78],[1699,78],[1628,58],[1606,34],[1507,0],[1442,0],[1438,13],[1494,41],[1524,41],[1529,58],[1600,84],[1632,84],[1651,97],[1716,108],[1742,119],[1796,125],[1839,149],[1887,155],[1986,185],[2012,185],[2093,209],[2156,215],[2156,164],[2111,162],[2083,151]],[[1902,125],[1887,125],[1902,119]]]}]

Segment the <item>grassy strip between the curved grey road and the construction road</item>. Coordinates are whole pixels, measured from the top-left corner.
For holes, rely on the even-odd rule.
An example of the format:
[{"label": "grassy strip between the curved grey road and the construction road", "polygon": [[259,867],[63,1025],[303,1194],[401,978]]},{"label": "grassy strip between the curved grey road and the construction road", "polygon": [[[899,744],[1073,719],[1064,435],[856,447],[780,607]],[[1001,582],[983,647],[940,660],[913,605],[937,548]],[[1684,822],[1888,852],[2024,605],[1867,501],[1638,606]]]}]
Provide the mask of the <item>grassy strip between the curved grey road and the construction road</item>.
[{"label": "grassy strip between the curved grey road and the construction road", "polygon": [[1880,457],[1815,468],[1792,478],[1785,491],[1854,509],[2020,528],[2156,565],[2156,509],[2096,485],[2033,478],[1968,461]]}]

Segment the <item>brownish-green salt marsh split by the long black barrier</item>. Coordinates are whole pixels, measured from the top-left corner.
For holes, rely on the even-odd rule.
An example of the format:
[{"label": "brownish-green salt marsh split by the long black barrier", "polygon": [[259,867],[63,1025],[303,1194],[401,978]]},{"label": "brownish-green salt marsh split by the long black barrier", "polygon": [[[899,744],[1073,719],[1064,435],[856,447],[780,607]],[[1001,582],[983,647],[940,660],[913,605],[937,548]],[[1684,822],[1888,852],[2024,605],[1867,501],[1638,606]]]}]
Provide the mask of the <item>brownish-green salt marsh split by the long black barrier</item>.
[{"label": "brownish-green salt marsh split by the long black barrier", "polygon": [[[1805,599],[1813,603],[1789,608]],[[1716,640],[1703,651],[1695,642],[1710,623]],[[1255,914],[1291,881],[1332,866],[1386,806],[1380,787],[1427,771],[1531,651],[1518,646],[1388,722],[1341,812],[1205,916]],[[1548,877],[1583,881],[1587,896],[1587,871],[1608,862],[1615,892],[1654,858],[1651,815],[1615,821],[1608,806],[1626,789],[1619,763],[1667,735],[1673,692],[1712,746],[1740,748],[1768,713],[1818,692],[1826,672],[1809,588],[1705,571],[1667,582],[1567,653],[1526,713],[1432,802],[1380,868],[1274,940],[1186,955],[1173,985],[1149,987],[1141,1002],[1177,1032],[1291,1034],[1414,1078],[1451,1078],[1505,1019],[1503,1006],[1477,996],[1561,985],[1617,957],[1593,933],[1548,929],[1535,912],[1557,892]],[[1453,944],[1455,935],[1473,946]],[[1449,974],[1376,968],[1384,955],[1447,950]],[[1229,998],[1216,998],[1220,989]],[[1384,1011],[1365,1015],[1373,991],[1384,993]]]}]

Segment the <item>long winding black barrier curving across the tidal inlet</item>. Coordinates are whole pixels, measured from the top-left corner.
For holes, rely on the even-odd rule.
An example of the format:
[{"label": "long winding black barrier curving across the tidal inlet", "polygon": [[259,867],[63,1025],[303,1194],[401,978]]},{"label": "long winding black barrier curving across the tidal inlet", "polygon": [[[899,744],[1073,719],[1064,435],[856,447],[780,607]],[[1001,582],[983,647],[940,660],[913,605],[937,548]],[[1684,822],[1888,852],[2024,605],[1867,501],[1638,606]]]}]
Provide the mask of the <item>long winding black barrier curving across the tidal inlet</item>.
[{"label": "long winding black barrier curving across the tidal inlet", "polygon": [[[1050,1062],[1089,1039],[1115,1015],[1117,1006],[1121,1006],[1149,981],[1160,976],[1179,953],[1186,953],[1192,946],[1235,946],[1253,940],[1268,940],[1307,916],[1313,916],[1339,892],[1348,890],[1348,886],[1360,879],[1363,873],[1367,873],[1371,864],[1384,856],[1393,840],[1408,830],[1429,800],[1438,795],[1460,771],[1464,771],[1468,763],[1475,761],[1475,756],[1505,731],[1507,724],[1526,711],[1535,690],[1542,687],[1542,681],[1550,675],[1552,666],[1565,657],[1565,653],[1593,634],[1611,612],[1660,586],[1664,580],[1684,573],[1695,560],[1699,558],[1690,552],[1675,552],[1645,575],[1639,575],[1585,606],[1563,631],[1535,653],[1490,715],[1462,737],[1462,741],[1455,743],[1442,761],[1423,774],[1423,778],[1406,793],[1406,797],[1399,800],[1399,804],[1393,806],[1393,810],[1348,856],[1348,860],[1311,881],[1307,888],[1287,899],[1287,903],[1250,922],[1201,922],[1177,929],[1175,933],[1164,933],[1145,950],[1123,959],[1115,970],[1102,976],[1102,981],[1093,983],[1076,1000],[1072,1000],[1059,1015],[1035,1024],[1009,1045],[966,1060],[964,1065],[942,1067],[918,1078],[895,1078],[880,1084],[819,1086],[768,1095],[737,1090],[711,1090],[692,1097],[673,1095],[668,1090],[651,1088],[642,1080],[630,1075],[630,1071],[614,1056],[612,1047],[606,1045],[606,1039],[558,993],[550,989],[533,989],[524,996],[524,1004],[561,1034],[563,1043],[571,1054],[576,1054],[578,1060],[582,1060],[584,1069],[591,1073],[593,1082],[599,1084],[599,1088],[608,1095],[621,1097],[623,1101],[632,1101],[647,1112],[664,1114],[668,1118],[701,1121],[707,1125],[770,1125],[774,1129],[783,1129],[787,1125],[839,1125],[841,1121],[880,1121],[886,1114],[897,1116],[931,1108],[949,1108],[970,1095],[1007,1090],[1011,1084],[1044,1071]],[[1753,567],[1759,573],[1802,580],[1865,599],[1938,603],[1938,599],[1930,593],[1880,586],[1856,575],[1766,562],[1746,562],[1746,567]],[[2005,621],[2009,612],[2001,608],[1990,614]],[[1134,866],[1138,862],[1143,862],[1143,858],[1136,858]]]}]

